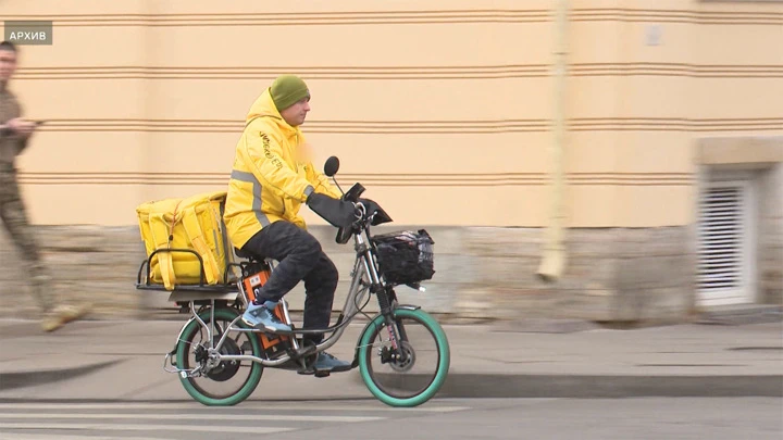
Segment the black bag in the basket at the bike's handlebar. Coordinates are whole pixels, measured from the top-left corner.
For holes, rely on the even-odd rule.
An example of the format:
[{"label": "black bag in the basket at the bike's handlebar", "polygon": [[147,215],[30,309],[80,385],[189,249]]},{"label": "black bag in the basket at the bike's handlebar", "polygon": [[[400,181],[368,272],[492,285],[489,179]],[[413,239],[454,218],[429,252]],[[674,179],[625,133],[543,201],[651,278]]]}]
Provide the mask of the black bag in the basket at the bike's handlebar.
[{"label": "black bag in the basket at the bike's handlebar", "polygon": [[387,282],[408,285],[431,279],[435,274],[432,237],[420,229],[372,237],[378,268]]}]

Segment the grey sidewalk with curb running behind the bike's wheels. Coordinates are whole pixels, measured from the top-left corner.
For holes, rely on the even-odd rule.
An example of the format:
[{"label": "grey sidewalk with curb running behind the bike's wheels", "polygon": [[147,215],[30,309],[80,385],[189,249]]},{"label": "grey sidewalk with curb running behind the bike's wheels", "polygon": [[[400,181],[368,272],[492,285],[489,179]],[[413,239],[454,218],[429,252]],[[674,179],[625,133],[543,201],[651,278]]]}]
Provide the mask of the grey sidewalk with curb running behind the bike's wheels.
[{"label": "grey sidewalk with curb running behind the bike's wheels", "polygon": [[[183,323],[86,320],[54,334],[0,320],[0,401],[190,400],[164,354]],[[352,359],[363,324],[330,350]],[[783,324],[515,331],[444,326],[451,368],[440,397],[783,397]],[[266,368],[250,399],[371,398],[358,369],[328,378]]]}]

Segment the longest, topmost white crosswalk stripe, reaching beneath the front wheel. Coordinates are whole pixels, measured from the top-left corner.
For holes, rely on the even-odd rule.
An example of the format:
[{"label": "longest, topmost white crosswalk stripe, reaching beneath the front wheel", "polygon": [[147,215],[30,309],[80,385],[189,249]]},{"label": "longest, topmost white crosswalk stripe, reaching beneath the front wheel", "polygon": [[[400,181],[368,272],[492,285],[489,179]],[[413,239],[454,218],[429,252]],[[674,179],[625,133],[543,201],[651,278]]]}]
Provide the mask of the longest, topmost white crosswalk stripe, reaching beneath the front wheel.
[{"label": "longest, topmost white crosswalk stripe, reaching beneath the front wheel", "polygon": [[[122,403],[122,402],[111,402],[111,403],[0,403],[0,410],[40,410],[40,411],[48,411],[48,410],[69,410],[69,411],[88,411],[88,410],[194,410],[194,408],[204,408],[209,410],[210,412],[213,411],[228,411],[229,408],[220,407],[220,406],[204,406],[198,402],[192,403],[165,403],[165,402],[154,402],[154,403],[135,403],[135,402],[128,402],[128,403]],[[333,404],[311,404],[310,402],[301,402],[301,403],[277,403],[274,401],[266,401],[266,402],[252,402],[252,401],[246,401],[240,403],[237,406],[232,406],[232,411],[239,410],[266,410],[266,411],[362,411],[362,412],[373,412],[373,411],[394,411],[394,412],[402,412],[402,411],[410,411],[410,412],[421,412],[421,413],[451,413],[457,411],[464,411],[469,410],[468,406],[436,406],[436,405],[421,405],[415,407],[390,407],[386,406],[383,403],[375,403],[373,401],[369,402],[361,402],[356,405],[333,405]],[[212,414],[212,413],[210,413]]]}]

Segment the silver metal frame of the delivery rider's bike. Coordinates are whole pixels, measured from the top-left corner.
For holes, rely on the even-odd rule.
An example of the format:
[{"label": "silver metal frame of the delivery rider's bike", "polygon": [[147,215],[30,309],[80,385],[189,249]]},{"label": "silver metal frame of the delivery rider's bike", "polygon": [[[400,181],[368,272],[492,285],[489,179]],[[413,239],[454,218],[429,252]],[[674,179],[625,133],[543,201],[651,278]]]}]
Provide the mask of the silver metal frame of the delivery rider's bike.
[{"label": "silver metal frame of the delivery rider's bike", "polygon": [[[389,324],[389,328],[394,335],[394,338],[391,340],[393,345],[395,349],[397,348],[396,340],[396,330],[391,326],[390,322],[390,312],[393,310],[391,304],[389,303],[389,299],[386,293],[386,289],[384,284],[382,282],[380,276],[378,276],[378,269],[377,269],[377,262],[374,257],[372,247],[369,244],[369,241],[364,239],[362,235],[366,235],[368,240],[370,237],[370,227],[368,224],[364,224],[361,229],[355,230],[353,232],[353,241],[355,241],[355,250],[357,252],[356,260],[353,262],[353,271],[351,272],[351,284],[350,288],[348,290],[348,297],[346,298],[345,304],[343,306],[343,310],[340,312],[339,317],[337,318],[337,323],[332,326],[327,327],[325,329],[295,329],[293,334],[286,334],[291,336],[291,344],[294,345],[294,355],[290,353],[285,353],[281,355],[281,357],[269,360],[263,359],[254,355],[248,355],[248,354],[221,354],[220,350],[223,347],[223,343],[225,342],[226,337],[229,332],[233,331],[240,331],[240,332],[256,332],[260,334],[263,332],[262,330],[256,330],[250,328],[240,328],[236,326],[236,323],[241,319],[241,315],[238,315],[232,323],[228,325],[228,328],[223,331],[223,335],[221,336],[220,340],[217,341],[214,347],[207,347],[209,352],[210,361],[220,363],[223,361],[251,361],[259,363],[265,367],[276,367],[281,366],[283,364],[286,364],[290,361],[300,360],[303,355],[318,353],[324,350],[327,350],[332,345],[334,345],[343,336],[345,332],[346,327],[348,324],[350,324],[357,314],[360,312],[360,307],[358,306],[358,300],[360,299],[360,292],[363,292],[365,290],[369,290],[368,294],[376,293],[378,298],[378,305],[381,306],[381,313],[384,315],[388,315],[387,317],[387,324]],[[363,282],[364,276],[371,280],[370,285],[366,282]],[[239,292],[241,293],[240,298],[243,302],[245,303],[245,306],[248,305],[248,294],[245,291],[245,287],[241,282],[241,280],[237,281],[237,286],[239,288]],[[283,301],[283,307],[284,313],[286,316],[286,319],[290,320],[290,317],[288,315],[288,307],[286,305],[286,302]],[[183,338],[183,331],[187,327],[188,324],[192,320],[198,320],[201,327],[207,329],[207,336],[208,336],[208,345],[212,345],[213,335],[214,335],[214,301],[212,301],[212,306],[210,307],[210,324],[203,322],[203,319],[198,315],[198,312],[196,311],[194,301],[190,301],[190,312],[192,313],[192,317],[183,326],[179,336],[177,337],[177,340],[182,340]],[[299,351],[298,342],[296,336],[299,335],[308,335],[308,334],[332,334],[327,338],[325,338],[321,343],[314,345],[314,349],[306,350],[303,354],[298,354]],[[190,373],[197,372],[201,369],[200,366],[189,370]],[[181,373],[185,373],[186,370],[179,370]]]}]

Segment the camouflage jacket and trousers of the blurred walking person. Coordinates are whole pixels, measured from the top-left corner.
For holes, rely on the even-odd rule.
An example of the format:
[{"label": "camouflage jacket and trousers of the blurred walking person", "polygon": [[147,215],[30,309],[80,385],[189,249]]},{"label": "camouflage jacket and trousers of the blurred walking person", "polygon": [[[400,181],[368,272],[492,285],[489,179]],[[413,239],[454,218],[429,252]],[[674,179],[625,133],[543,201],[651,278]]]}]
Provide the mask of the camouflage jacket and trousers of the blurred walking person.
[{"label": "camouflage jacket and trousers of the blurred walking person", "polygon": [[[0,125],[22,114],[15,97],[0,83]],[[33,294],[45,313],[50,312],[52,289],[49,275],[41,262],[35,234],[33,232],[16,181],[15,160],[27,146],[27,139],[10,130],[0,131],[0,218],[16,244],[24,269],[29,269],[28,279]]]}]

